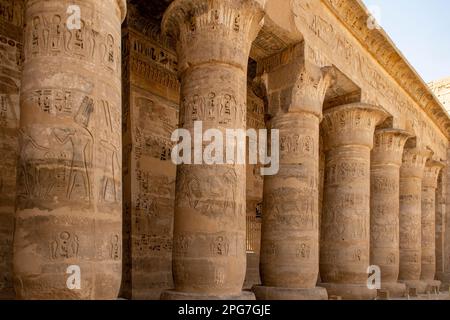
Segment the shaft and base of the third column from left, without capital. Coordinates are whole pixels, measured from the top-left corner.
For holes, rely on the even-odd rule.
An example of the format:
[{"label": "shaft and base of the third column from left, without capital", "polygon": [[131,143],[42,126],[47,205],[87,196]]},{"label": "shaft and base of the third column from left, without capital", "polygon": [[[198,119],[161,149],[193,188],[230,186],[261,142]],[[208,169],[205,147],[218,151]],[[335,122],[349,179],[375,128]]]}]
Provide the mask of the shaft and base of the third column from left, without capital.
[{"label": "shaft and base of the third column from left, without capital", "polygon": [[[261,279],[264,299],[326,299],[319,273],[319,118],[287,113],[280,130],[280,171],[264,180]],[[276,288],[268,288],[276,287]],[[309,289],[309,290],[308,290]]]}]

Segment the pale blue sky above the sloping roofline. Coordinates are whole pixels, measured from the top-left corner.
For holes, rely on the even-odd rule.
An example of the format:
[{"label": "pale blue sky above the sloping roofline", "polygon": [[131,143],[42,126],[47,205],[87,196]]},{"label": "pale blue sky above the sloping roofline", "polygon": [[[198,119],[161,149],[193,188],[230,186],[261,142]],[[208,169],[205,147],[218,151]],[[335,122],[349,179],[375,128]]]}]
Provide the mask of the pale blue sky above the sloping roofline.
[{"label": "pale blue sky above the sloping roofline", "polygon": [[450,77],[449,0],[363,0],[426,82]]}]

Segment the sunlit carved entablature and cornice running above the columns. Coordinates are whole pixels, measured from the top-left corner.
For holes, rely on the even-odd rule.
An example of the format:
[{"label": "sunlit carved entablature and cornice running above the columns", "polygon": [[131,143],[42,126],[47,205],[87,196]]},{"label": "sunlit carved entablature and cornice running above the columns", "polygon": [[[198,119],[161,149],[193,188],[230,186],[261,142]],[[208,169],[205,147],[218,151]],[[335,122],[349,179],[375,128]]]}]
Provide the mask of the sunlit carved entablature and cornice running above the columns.
[{"label": "sunlit carved entablature and cornice running above the columns", "polygon": [[[323,3],[330,6],[333,13],[337,14],[339,19],[343,19],[346,26],[353,32],[353,35],[362,41],[361,43],[366,48],[372,48],[381,43],[386,45],[385,42],[379,41],[380,39],[366,41],[365,33],[368,32],[367,37],[370,38],[373,32],[367,30],[367,26],[365,25],[366,18],[361,18],[361,16],[355,14],[355,12],[361,13],[361,8],[358,4],[353,3],[353,1],[350,4],[345,1],[332,0],[324,0]],[[436,145],[436,152],[443,157],[446,150],[444,134],[447,134],[448,131],[448,125],[445,125],[445,119],[447,117],[443,115],[439,107],[436,107],[436,101],[423,88],[423,84],[414,81],[414,75],[410,75],[408,79],[411,80],[410,83],[415,83],[417,88],[412,89],[409,83],[404,82],[406,79],[405,74],[409,72],[409,66],[406,66],[403,71],[393,75],[392,71],[395,70],[393,65],[401,64],[403,59],[398,57],[392,59],[392,61],[382,61],[382,65],[386,67],[387,73],[391,73],[394,79],[400,79],[400,82],[407,91],[405,93],[405,91],[398,89],[397,83],[393,81],[394,79],[386,76],[387,73],[385,70],[373,63],[371,55],[359,48],[357,41],[349,38],[348,34],[338,26],[338,20],[331,19],[329,16],[319,13],[317,9],[321,5],[322,3],[313,5],[312,2],[295,2],[293,5],[297,26],[305,32],[305,37],[308,38],[306,41],[307,57],[318,66],[336,64],[344,72],[354,75],[353,80],[356,83],[361,87],[368,87],[367,90],[363,90],[364,101],[376,105],[386,105],[389,107],[389,111],[396,116],[404,117],[407,119],[405,121],[410,121],[411,123],[416,122],[418,124],[415,129],[416,133],[420,133],[420,135],[423,135],[423,139]],[[364,24],[361,24],[362,22]],[[358,26],[358,28],[356,29],[355,26]],[[381,40],[383,40],[382,37]],[[383,49],[387,51],[392,50],[390,44],[387,44]],[[381,51],[381,49],[374,49],[372,52],[376,59],[392,58],[391,55],[381,55]],[[394,55],[396,54],[394,53]],[[430,105],[435,107],[430,108]],[[425,112],[428,112],[428,115],[444,134],[439,132],[438,128],[429,121],[429,118],[425,116],[425,113],[419,107],[422,107]]]}]

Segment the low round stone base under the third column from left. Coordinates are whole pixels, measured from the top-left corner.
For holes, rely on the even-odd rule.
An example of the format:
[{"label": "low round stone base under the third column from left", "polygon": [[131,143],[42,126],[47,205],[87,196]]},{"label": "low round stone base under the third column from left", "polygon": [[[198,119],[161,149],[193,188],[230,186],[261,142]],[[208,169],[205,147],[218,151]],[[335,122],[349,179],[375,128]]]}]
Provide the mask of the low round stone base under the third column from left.
[{"label": "low round stone base under the third column from left", "polygon": [[254,286],[257,300],[328,300],[325,288],[312,289]]}]

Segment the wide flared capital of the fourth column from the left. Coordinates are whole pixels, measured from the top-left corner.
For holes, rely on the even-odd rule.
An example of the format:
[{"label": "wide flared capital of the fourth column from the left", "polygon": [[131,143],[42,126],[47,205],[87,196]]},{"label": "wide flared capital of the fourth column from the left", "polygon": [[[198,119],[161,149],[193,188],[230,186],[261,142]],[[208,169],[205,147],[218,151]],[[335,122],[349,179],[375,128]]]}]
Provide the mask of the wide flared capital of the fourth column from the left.
[{"label": "wide flared capital of the fourth column from the left", "polygon": [[342,145],[364,145],[372,148],[375,127],[388,116],[384,109],[360,102],[326,110],[322,122],[325,150]]}]

